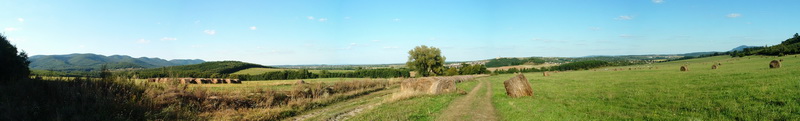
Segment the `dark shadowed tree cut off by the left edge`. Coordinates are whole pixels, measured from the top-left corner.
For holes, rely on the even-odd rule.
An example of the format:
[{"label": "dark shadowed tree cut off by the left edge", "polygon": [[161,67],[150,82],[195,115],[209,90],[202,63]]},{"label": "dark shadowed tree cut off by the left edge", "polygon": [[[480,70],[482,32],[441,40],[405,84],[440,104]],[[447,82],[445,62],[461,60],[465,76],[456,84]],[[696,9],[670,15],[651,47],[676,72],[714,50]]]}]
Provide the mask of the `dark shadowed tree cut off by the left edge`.
[{"label": "dark shadowed tree cut off by the left edge", "polygon": [[28,55],[17,51],[17,47],[0,35],[0,83],[27,79],[31,73],[28,64]]}]

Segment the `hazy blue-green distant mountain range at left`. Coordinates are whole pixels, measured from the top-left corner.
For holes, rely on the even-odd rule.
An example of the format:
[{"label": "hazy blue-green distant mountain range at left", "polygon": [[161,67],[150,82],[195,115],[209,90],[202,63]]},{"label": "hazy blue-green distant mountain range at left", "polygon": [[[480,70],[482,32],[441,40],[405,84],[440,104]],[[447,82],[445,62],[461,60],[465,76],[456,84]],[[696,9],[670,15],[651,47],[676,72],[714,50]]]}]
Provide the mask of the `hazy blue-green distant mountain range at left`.
[{"label": "hazy blue-green distant mountain range at left", "polygon": [[92,71],[106,64],[109,69],[156,68],[205,62],[200,59],[173,59],[139,57],[127,55],[104,56],[98,54],[35,55],[28,58],[32,70]]}]

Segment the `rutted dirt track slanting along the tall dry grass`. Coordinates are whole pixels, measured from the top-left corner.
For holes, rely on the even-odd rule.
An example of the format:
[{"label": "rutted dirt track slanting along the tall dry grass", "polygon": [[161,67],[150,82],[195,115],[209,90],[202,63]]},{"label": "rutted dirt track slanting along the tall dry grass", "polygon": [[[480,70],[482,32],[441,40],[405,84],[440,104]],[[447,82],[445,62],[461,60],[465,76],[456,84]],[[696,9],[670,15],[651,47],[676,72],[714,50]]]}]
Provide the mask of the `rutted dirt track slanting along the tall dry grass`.
[{"label": "rutted dirt track slanting along the tall dry grass", "polygon": [[390,97],[392,92],[396,92],[397,90],[398,90],[397,88],[393,88],[393,89],[385,89],[378,92],[373,92],[368,95],[360,96],[358,98],[335,103],[330,106],[326,106],[324,108],[315,109],[309,111],[308,113],[288,118],[287,120],[290,121],[346,120],[363,111],[371,110],[372,108],[375,108],[383,104],[384,98]]}]

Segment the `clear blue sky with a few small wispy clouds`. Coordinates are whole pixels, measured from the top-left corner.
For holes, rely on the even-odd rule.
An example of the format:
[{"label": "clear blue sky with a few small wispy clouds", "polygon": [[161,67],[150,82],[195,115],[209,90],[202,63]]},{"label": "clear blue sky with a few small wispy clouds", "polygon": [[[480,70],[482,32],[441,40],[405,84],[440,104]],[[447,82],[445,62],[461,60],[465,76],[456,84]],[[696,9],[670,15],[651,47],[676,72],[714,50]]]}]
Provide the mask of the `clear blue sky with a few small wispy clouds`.
[{"label": "clear blue sky with a few small wispy clouds", "polygon": [[675,54],[773,45],[796,0],[4,0],[0,28],[30,55],[97,53],[264,65]]}]

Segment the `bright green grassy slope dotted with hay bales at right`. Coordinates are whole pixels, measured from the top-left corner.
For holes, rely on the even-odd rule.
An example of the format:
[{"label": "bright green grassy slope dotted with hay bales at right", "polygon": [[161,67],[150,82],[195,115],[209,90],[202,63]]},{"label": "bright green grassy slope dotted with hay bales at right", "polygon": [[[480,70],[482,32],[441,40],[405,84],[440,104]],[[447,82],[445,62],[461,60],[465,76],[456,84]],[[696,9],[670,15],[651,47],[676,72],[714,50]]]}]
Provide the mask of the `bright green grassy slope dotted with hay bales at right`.
[{"label": "bright green grassy slope dotted with hay bales at right", "polygon": [[[769,61],[785,59],[769,69]],[[713,62],[722,63],[711,70]],[[689,65],[689,72],[679,71]],[[649,69],[647,66],[658,67]],[[643,68],[627,70],[627,68]],[[526,73],[533,97],[509,98],[503,81],[488,77],[502,120],[695,120],[800,118],[800,58],[717,56],[635,65],[625,71]]]}]

